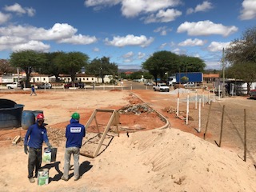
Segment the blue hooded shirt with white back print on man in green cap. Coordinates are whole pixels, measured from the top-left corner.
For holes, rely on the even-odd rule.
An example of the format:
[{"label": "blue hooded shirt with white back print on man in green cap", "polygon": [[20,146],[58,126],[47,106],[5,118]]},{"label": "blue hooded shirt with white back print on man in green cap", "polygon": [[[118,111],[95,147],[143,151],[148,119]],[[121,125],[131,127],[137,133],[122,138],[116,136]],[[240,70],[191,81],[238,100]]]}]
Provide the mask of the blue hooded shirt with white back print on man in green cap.
[{"label": "blue hooded shirt with white back print on man in green cap", "polygon": [[81,148],[82,138],[86,136],[86,128],[78,120],[71,118],[66,126],[66,148],[75,146]]}]

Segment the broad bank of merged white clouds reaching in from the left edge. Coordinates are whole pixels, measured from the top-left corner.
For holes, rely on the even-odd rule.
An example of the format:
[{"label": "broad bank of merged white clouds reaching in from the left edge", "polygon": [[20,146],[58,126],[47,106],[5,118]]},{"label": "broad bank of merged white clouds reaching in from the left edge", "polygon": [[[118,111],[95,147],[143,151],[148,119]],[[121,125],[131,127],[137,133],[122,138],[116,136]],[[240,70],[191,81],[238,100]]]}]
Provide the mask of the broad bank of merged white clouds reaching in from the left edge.
[{"label": "broad bank of merged white clouds reaching in from the left edge", "polygon": [[41,41],[74,45],[88,45],[98,41],[94,36],[76,34],[77,31],[66,23],[56,23],[49,30],[21,25],[0,27],[0,50],[22,50],[26,47],[38,51],[49,50],[50,46]]}]

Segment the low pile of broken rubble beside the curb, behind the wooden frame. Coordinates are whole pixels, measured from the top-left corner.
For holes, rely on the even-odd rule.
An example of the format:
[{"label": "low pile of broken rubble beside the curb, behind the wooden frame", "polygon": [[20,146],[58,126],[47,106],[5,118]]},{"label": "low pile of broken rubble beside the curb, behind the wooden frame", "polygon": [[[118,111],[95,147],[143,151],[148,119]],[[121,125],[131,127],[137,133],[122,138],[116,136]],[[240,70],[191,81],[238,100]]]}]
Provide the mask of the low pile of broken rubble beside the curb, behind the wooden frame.
[{"label": "low pile of broken rubble beside the curb, behind the wooden frame", "polygon": [[145,103],[123,106],[121,109],[118,110],[119,114],[150,114],[154,112],[155,111],[150,108],[150,106],[147,106]]}]

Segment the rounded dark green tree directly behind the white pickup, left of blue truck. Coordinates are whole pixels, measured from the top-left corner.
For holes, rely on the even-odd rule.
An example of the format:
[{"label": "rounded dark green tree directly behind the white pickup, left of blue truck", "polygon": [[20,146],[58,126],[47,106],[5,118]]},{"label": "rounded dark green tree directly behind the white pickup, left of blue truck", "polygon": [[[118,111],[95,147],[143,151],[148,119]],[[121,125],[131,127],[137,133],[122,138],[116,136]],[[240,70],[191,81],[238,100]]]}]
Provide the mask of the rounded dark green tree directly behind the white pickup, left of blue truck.
[{"label": "rounded dark green tree directly behind the white pickup, left of blue truck", "polygon": [[173,74],[178,71],[178,55],[170,51],[162,50],[155,52],[146,62],[142,63],[142,69],[148,70],[154,76],[155,82],[158,77],[164,79],[166,72]]}]

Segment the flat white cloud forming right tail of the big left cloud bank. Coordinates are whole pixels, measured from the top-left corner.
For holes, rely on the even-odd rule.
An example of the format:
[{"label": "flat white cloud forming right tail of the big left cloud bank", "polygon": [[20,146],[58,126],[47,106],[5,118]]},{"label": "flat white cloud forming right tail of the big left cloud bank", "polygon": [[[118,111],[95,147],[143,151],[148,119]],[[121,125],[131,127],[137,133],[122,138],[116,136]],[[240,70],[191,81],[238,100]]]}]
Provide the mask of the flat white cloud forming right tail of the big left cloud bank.
[{"label": "flat white cloud forming right tail of the big left cloud bank", "polygon": [[95,36],[90,37],[82,34],[74,35],[71,38],[63,38],[58,40],[58,43],[70,43],[74,45],[88,45],[94,42],[97,42],[97,38]]}]

